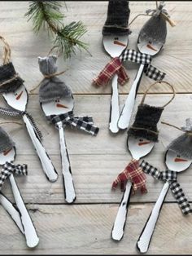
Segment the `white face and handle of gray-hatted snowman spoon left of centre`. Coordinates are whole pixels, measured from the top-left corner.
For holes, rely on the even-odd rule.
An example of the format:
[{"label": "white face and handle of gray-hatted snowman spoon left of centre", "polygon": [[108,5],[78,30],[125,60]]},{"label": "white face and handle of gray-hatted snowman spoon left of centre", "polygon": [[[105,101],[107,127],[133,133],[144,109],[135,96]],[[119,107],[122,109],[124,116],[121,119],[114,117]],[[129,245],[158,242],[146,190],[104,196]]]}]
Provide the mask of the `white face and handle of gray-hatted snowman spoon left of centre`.
[{"label": "white face and handle of gray-hatted snowman spoon left of centre", "polygon": [[[48,103],[41,104],[43,112],[46,114],[46,117],[50,115],[60,115],[63,113],[68,113],[73,110],[74,100],[73,96],[65,97],[60,100],[51,101]],[[57,123],[59,127],[59,143],[60,143],[60,152],[62,160],[62,173],[63,173],[63,184],[64,184],[64,193],[65,200],[71,204],[76,200],[76,192],[72,180],[72,170],[68,157],[68,149],[65,142],[63,124],[61,121]]]}]

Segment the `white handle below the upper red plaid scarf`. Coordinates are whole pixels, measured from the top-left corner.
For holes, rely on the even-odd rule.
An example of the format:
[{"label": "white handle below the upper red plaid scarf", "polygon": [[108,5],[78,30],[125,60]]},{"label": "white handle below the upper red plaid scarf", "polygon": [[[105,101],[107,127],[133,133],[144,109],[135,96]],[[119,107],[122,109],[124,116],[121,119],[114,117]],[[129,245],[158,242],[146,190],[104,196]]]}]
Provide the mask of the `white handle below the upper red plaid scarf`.
[{"label": "white handle below the upper red plaid scarf", "polygon": [[112,94],[111,94],[111,109],[110,109],[110,124],[109,130],[112,133],[117,133],[119,131],[119,127],[117,126],[118,119],[120,117],[120,107],[119,107],[119,94],[118,94],[118,76],[115,75],[112,78],[111,86],[112,86]]}]

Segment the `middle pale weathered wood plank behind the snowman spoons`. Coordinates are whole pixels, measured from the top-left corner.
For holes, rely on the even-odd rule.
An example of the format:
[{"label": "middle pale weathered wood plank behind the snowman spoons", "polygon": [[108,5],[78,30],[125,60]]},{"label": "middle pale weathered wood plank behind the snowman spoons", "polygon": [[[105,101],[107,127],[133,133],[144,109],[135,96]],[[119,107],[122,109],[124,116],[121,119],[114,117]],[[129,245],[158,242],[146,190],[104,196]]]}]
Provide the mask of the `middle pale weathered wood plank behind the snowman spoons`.
[{"label": "middle pale weathered wood plank behind the snowman spoons", "polygon": [[[146,104],[163,105],[171,95],[149,95],[146,96]],[[125,95],[120,96],[120,103],[124,102]],[[142,96],[138,95],[137,104],[141,102]],[[18,157],[17,162],[28,163],[28,178],[18,177],[18,183],[24,201],[30,203],[63,203],[63,180],[61,176],[61,161],[59,154],[59,133],[54,126],[46,122],[37,104],[37,95],[31,95],[28,102],[28,112],[33,114],[37,124],[44,135],[43,143],[55,168],[59,172],[59,180],[56,183],[49,183],[45,174],[41,170],[41,165],[33,149],[33,145],[28,138],[24,125],[4,124],[4,129],[9,132],[12,139],[15,140]],[[75,95],[76,115],[89,114],[94,117],[94,123],[100,130],[96,137],[87,135],[78,130],[66,128],[66,140],[68,145],[69,157],[72,165],[72,174],[76,186],[77,203],[98,203],[98,202],[120,202],[121,192],[111,192],[111,183],[116,179],[117,174],[124,170],[124,167],[131,159],[131,155],[126,146],[126,131],[113,136],[107,129],[110,96],[109,95]],[[1,101],[3,104],[3,101]],[[133,117],[137,110],[137,104],[134,108]],[[190,117],[192,109],[192,95],[177,95],[176,98],[164,108],[161,120],[168,121],[176,126],[185,125],[185,118]],[[15,120],[7,117],[6,120]],[[4,121],[3,118],[0,122]],[[164,126],[159,122],[159,143],[145,157],[152,165],[165,169],[164,152],[168,143],[172,139],[181,135],[179,130],[169,126]],[[26,179],[26,182],[24,181]],[[192,201],[191,188],[191,169],[186,170],[178,176],[182,188],[184,188],[188,199]],[[163,186],[163,183],[155,181],[151,176],[147,177],[148,193],[144,196],[132,196],[131,201],[154,202]],[[7,195],[10,195],[10,188],[6,189]],[[166,201],[175,201],[172,193],[168,193]]]}]

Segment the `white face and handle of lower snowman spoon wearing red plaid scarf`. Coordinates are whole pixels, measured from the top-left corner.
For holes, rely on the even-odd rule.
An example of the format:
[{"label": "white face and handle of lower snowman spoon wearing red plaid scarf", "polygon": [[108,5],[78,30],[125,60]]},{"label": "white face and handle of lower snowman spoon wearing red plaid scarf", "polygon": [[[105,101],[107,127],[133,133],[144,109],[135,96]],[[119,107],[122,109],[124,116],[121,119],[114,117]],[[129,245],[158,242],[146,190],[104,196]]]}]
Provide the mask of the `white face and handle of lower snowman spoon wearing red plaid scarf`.
[{"label": "white face and handle of lower snowman spoon wearing red plaid scarf", "polygon": [[[128,148],[132,154],[133,159],[139,160],[141,157],[146,156],[151,152],[155,142],[147,139],[135,138],[133,136],[128,137]],[[131,195],[132,184],[127,182],[122,200],[118,212],[116,214],[116,220],[112,227],[111,237],[113,240],[120,241],[124,236],[124,227],[128,213],[129,200]]]}]

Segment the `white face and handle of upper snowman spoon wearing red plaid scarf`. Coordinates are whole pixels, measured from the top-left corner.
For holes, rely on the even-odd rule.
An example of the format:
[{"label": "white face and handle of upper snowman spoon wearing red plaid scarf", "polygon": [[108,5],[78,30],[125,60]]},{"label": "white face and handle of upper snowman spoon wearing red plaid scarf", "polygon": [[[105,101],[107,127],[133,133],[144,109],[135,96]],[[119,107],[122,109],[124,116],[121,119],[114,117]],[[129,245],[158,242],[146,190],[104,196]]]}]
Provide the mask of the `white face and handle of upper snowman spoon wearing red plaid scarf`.
[{"label": "white face and handle of upper snowman spoon wearing red plaid scarf", "polygon": [[[103,36],[103,46],[107,53],[111,55],[112,58],[119,57],[127,47],[129,41],[129,36],[116,36],[116,35],[105,35]],[[111,86],[111,109],[110,109],[110,124],[109,130],[112,133],[117,133],[119,127],[117,126],[117,121],[120,117],[120,106],[119,106],[119,94],[118,94],[118,76],[115,75],[112,78]]]}]

